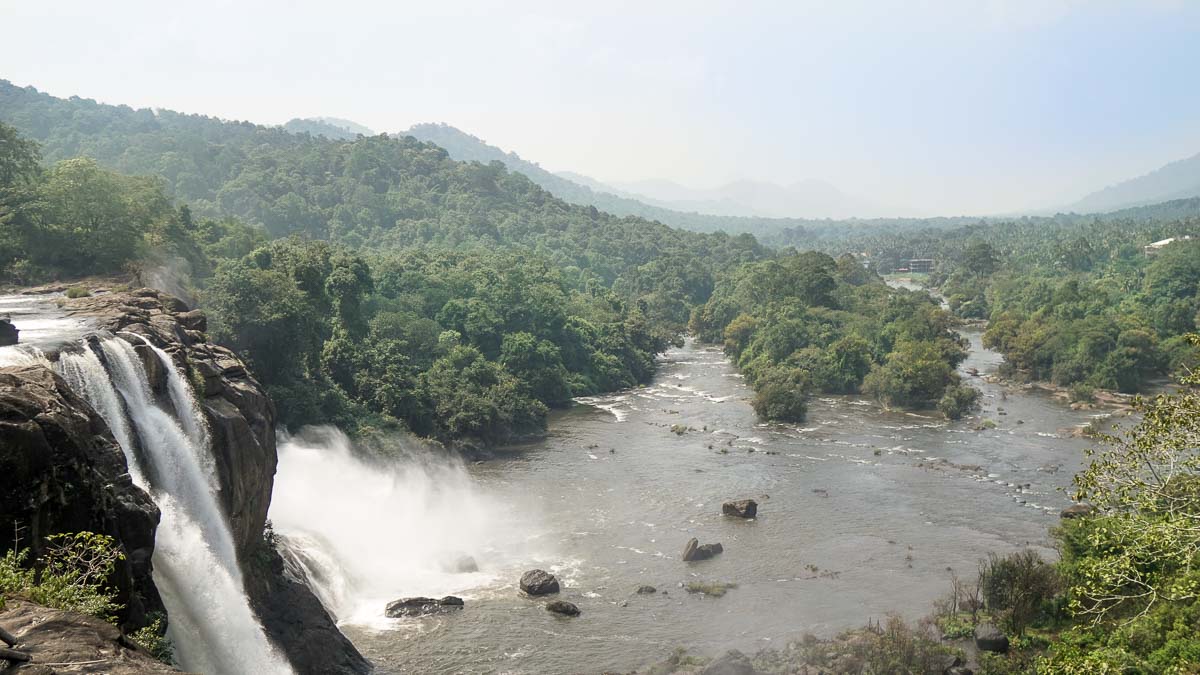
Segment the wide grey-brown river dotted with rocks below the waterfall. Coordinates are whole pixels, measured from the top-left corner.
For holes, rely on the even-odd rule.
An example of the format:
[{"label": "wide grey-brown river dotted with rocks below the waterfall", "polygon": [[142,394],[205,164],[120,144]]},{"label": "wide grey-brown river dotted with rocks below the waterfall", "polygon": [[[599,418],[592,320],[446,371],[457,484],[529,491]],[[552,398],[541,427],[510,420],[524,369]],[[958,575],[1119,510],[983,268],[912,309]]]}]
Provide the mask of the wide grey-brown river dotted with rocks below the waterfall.
[{"label": "wide grey-brown river dotted with rocks below the waterfall", "polygon": [[[994,371],[1001,357],[965,335],[962,369]],[[967,378],[983,411],[961,422],[836,396],[814,400],[806,424],[762,424],[725,356],[689,342],[662,357],[653,384],[588,399],[552,416],[544,440],[466,467],[466,486],[397,478],[391,489],[420,492],[421,504],[382,502],[365,520],[376,539],[396,532],[401,544],[360,557],[461,550],[480,572],[392,574],[367,605],[340,614],[342,627],[382,673],[599,673],[677,646],[754,651],[889,613],[917,619],[948,591],[949,569],[972,575],[988,552],[1026,545],[1054,555],[1048,528],[1087,446],[1060,430],[1091,413]],[[996,428],[977,430],[984,419]],[[312,494],[289,488],[299,452],[281,450],[277,498]],[[743,497],[758,501],[756,520],[721,515],[724,500]],[[684,563],[691,537],[725,552]],[[521,597],[533,567],[562,579],[580,617]],[[710,580],[737,587],[719,598],[680,587]],[[635,595],[643,584],[660,592]],[[389,592],[454,593],[466,609],[384,620]]]}]

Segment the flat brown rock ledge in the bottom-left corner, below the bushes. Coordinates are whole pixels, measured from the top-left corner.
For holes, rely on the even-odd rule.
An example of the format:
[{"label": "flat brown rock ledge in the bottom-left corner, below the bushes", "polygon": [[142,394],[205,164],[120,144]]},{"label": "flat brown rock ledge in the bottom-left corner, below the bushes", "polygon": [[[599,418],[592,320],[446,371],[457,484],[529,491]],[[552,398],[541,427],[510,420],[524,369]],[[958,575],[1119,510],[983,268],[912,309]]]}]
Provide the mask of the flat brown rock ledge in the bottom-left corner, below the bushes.
[{"label": "flat brown rock ledge in the bottom-left corner, below the bushes", "polygon": [[112,623],[92,616],[10,599],[0,611],[0,625],[17,638],[19,651],[32,657],[30,663],[5,673],[61,673],[55,667],[40,665],[42,663],[86,664],[86,670],[70,669],[73,673],[179,673],[124,637]]}]

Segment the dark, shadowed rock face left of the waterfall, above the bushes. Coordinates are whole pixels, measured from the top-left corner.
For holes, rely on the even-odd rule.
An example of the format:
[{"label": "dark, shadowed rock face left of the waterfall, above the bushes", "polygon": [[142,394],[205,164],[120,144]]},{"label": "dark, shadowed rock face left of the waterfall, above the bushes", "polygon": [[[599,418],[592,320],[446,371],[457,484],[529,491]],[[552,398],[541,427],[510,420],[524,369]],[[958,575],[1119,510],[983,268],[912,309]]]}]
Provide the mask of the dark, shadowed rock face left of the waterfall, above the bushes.
[{"label": "dark, shadowed rock face left of the waterfall, above the bushes", "polygon": [[25,528],[20,546],[34,557],[50,534],[113,537],[126,557],[114,579],[121,625],[136,629],[163,611],[150,566],[158,508],[133,485],[104,420],[40,365],[0,369],[0,521]]}]

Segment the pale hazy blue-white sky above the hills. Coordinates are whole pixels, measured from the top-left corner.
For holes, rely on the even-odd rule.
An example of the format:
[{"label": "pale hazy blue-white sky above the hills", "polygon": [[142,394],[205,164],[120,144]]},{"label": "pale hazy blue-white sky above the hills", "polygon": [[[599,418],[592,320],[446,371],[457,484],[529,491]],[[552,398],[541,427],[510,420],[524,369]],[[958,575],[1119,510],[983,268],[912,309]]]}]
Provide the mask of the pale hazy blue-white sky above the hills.
[{"label": "pale hazy blue-white sky above the hills", "polygon": [[1200,153],[1200,1],[0,0],[0,78],[606,181],[804,179],[904,213],[1074,202]]}]

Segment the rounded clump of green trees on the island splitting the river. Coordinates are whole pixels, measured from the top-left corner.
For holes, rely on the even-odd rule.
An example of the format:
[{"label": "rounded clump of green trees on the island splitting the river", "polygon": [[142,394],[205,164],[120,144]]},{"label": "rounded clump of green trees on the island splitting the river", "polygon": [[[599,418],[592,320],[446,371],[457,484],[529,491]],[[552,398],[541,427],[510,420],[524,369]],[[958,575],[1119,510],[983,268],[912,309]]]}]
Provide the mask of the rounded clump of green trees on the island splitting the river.
[{"label": "rounded clump of green trees on the island splitting the river", "polygon": [[743,265],[692,315],[701,339],[724,341],[768,419],[802,420],[810,393],[862,392],[895,407],[959,418],[978,392],[954,318],[926,293],[889,288],[853,256],[806,252]]}]

